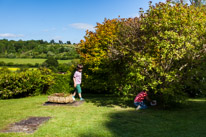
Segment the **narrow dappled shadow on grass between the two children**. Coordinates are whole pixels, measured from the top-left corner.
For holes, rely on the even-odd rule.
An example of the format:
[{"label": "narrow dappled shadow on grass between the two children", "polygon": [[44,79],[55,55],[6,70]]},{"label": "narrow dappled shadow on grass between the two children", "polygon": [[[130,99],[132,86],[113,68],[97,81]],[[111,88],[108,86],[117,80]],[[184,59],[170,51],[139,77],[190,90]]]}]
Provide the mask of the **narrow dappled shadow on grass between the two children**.
[{"label": "narrow dappled shadow on grass between the two children", "polygon": [[94,103],[96,106],[120,106],[122,108],[134,107],[133,99],[120,98],[114,95],[85,94],[84,97],[86,99],[86,102]]}]

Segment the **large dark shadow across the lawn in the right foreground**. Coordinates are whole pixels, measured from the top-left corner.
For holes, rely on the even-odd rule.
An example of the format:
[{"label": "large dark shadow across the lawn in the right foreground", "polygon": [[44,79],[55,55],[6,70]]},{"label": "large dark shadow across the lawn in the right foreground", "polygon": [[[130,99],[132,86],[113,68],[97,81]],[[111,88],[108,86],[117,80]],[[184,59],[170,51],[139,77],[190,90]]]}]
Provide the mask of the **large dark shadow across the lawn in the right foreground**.
[{"label": "large dark shadow across the lawn in the right foreground", "polygon": [[[104,98],[99,99],[104,100]],[[96,102],[97,100],[91,100]],[[105,101],[104,101],[105,102]],[[96,102],[97,104],[99,101]],[[100,105],[109,105],[106,101]],[[116,104],[116,103],[114,103]],[[203,137],[206,134],[206,101],[189,101],[181,109],[147,109],[115,111],[108,115],[104,126],[110,134],[91,132],[81,137],[118,136],[118,137]]]}]

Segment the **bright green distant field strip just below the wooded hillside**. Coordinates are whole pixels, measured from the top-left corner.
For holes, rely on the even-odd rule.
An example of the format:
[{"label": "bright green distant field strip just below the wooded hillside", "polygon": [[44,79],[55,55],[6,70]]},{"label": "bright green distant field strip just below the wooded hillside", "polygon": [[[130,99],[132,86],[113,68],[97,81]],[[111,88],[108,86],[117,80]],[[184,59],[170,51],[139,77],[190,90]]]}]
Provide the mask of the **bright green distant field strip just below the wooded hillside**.
[{"label": "bright green distant field strip just below the wooded hillside", "polygon": [[[10,59],[10,58],[0,58],[0,61],[4,61],[5,63],[13,62],[15,64],[35,64],[39,63],[42,64],[46,59],[31,59],[31,58],[16,58],[16,59]],[[72,60],[58,60],[60,64],[62,63],[69,63]]]}]

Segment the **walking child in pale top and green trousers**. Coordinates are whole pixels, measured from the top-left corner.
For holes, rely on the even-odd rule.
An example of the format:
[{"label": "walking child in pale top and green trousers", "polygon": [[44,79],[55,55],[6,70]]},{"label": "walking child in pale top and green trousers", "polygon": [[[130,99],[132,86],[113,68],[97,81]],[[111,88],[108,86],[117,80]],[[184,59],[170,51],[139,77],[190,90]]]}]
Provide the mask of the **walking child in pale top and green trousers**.
[{"label": "walking child in pale top and green trousers", "polygon": [[82,94],[81,94],[82,89],[80,87],[80,84],[82,82],[82,69],[83,69],[83,65],[78,64],[77,65],[77,70],[75,71],[74,76],[73,76],[74,88],[75,88],[74,94],[72,96],[73,100],[75,100],[76,92],[79,94],[80,100],[84,100],[82,98]]}]

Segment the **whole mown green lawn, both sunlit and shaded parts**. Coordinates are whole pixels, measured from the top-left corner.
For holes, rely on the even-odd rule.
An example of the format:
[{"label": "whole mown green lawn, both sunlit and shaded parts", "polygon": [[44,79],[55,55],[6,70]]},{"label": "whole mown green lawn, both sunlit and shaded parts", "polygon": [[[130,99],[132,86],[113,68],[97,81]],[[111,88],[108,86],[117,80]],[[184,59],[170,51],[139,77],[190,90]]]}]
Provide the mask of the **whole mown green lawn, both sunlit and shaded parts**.
[{"label": "whole mown green lawn, both sunlit and shaded parts", "polygon": [[47,96],[0,100],[0,129],[29,116],[50,116],[34,137],[204,137],[206,99],[190,99],[180,108],[135,111],[132,102],[100,95],[84,95],[79,107],[43,106]]}]

